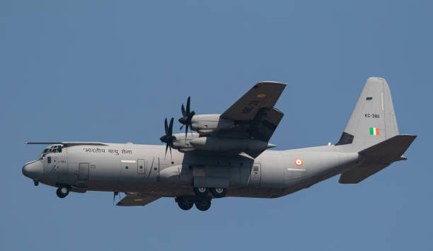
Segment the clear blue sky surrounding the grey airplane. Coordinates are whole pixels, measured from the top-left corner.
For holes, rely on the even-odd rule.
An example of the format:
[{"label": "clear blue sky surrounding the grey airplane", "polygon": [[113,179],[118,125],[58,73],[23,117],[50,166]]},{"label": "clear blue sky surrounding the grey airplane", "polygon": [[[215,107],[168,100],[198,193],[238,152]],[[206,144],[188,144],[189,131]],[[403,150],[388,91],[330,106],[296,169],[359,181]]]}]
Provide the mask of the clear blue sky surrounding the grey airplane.
[{"label": "clear blue sky surrounding the grey airplane", "polygon": [[[431,1],[0,1],[1,250],[433,250]],[[369,76],[388,80],[408,161],[279,199],[57,198],[21,173],[45,146],[161,144],[192,96],[221,113],[288,83],[277,149],[335,143]],[[180,124],[175,124],[177,130]]]}]

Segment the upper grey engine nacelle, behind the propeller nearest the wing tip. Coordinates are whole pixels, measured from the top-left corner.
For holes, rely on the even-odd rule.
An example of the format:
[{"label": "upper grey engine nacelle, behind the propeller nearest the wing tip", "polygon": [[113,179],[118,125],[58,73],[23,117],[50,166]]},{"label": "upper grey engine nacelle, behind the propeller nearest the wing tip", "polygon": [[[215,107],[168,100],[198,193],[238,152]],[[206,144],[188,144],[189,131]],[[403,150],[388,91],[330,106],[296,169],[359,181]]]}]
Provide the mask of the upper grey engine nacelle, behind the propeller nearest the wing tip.
[{"label": "upper grey engine nacelle, behind the propeller nearest the wing tip", "polygon": [[234,126],[234,121],[224,119],[221,115],[195,115],[191,119],[192,130],[199,134],[210,134],[221,129],[230,129]]}]

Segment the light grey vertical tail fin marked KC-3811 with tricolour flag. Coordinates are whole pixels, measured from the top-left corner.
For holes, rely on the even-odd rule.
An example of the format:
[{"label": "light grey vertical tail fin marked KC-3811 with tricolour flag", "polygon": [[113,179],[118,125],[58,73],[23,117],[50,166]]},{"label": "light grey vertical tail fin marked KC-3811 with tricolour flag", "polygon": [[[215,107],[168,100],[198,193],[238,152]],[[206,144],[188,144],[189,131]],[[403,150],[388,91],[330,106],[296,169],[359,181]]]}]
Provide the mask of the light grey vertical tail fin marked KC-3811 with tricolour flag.
[{"label": "light grey vertical tail fin marked KC-3811 with tricolour flag", "polygon": [[369,78],[358,103],[336,145],[350,145],[361,151],[398,135],[396,114],[388,83],[383,78]]}]

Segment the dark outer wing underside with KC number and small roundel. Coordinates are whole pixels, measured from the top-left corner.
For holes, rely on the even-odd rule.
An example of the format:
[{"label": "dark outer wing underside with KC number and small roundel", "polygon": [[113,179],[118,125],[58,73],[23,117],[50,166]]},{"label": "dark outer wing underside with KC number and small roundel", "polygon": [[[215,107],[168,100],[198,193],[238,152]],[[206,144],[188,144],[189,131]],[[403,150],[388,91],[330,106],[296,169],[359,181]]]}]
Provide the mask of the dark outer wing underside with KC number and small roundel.
[{"label": "dark outer wing underside with KC number and small roundel", "polygon": [[274,107],[286,84],[261,82],[255,84],[242,98],[226,110],[221,117],[235,121],[253,120],[261,108]]}]

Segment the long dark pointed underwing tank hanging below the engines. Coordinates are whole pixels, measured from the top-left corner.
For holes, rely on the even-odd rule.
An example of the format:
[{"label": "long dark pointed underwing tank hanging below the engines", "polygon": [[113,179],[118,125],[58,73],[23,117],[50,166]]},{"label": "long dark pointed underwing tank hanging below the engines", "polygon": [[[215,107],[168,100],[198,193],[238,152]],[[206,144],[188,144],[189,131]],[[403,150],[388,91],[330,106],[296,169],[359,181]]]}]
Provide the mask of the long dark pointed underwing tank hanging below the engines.
[{"label": "long dark pointed underwing tank hanging below the engines", "polygon": [[231,139],[219,137],[200,137],[192,139],[190,145],[199,150],[206,151],[232,151],[232,152],[260,152],[275,147],[265,141],[257,139]]}]

